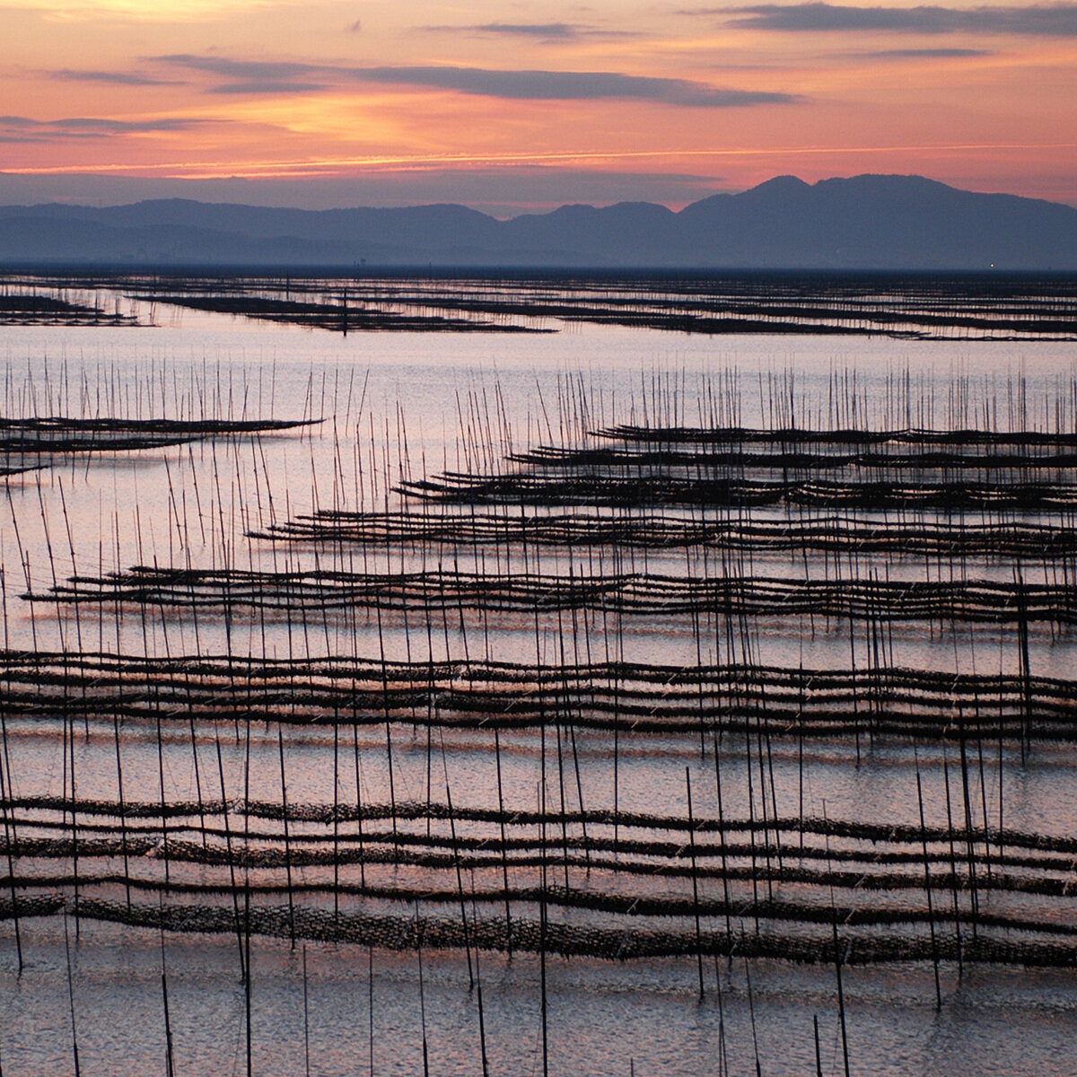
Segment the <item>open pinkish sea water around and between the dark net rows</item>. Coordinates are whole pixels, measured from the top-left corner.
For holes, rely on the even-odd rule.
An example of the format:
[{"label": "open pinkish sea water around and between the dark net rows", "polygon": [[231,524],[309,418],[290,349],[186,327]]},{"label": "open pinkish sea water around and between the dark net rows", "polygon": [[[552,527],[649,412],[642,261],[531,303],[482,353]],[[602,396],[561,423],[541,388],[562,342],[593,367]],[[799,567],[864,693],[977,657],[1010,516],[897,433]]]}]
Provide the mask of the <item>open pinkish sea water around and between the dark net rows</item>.
[{"label": "open pinkish sea water around and between the dark net rows", "polygon": [[[8,327],[0,342],[0,412],[185,418],[322,418],[312,430],[226,439],[143,453],[58,462],[8,485],[0,505],[4,642],[11,648],[121,651],[156,656],[224,653],[264,657],[358,654],[424,661],[465,655],[554,665],[565,630],[501,616],[480,630],[445,624],[436,634],[406,618],[326,618],[302,638],[286,617],[239,617],[226,624],[182,611],[58,610],[20,596],[72,574],[131,564],[208,568],[310,568],[328,558],[355,571],[400,571],[418,555],[356,549],[284,548],[244,532],[317,508],[397,507],[402,478],[442,471],[493,471],[501,458],[536,444],[582,443],[614,422],[693,425],[721,416],[743,425],[904,425],[1007,429],[1075,426],[1077,353],[1073,345],[1004,341],[903,341],[890,338],[716,337],[564,326],[534,336],[351,334],[347,337],[183,312],[156,311],[143,327]],[[703,403],[707,402],[707,403]],[[482,568],[478,555],[465,568]],[[593,567],[586,550],[547,551],[535,571]],[[336,560],[333,560],[333,559]],[[652,571],[681,571],[684,554],[649,555]],[[324,568],[322,560],[317,562]],[[430,565],[426,565],[430,568]],[[800,576],[796,559],[753,561],[759,574]],[[895,577],[945,578],[950,567],[897,557]],[[1007,579],[993,559],[969,573]],[[1046,568],[1027,570],[1033,575]],[[1036,577],[1038,578],[1038,577]],[[628,658],[693,665],[737,658],[721,633],[697,635],[676,619],[623,626]],[[421,629],[421,630],[419,630]],[[867,641],[848,625],[764,618],[752,656],[763,663],[839,668]],[[609,624],[591,615],[573,633],[599,660]],[[961,672],[1015,672],[1018,647],[1005,630],[897,628],[897,665]],[[1034,631],[1034,672],[1073,676],[1072,639]],[[862,661],[864,659],[862,658]],[[208,729],[127,730],[128,800],[194,799],[249,789],[251,799],[326,805],[389,799],[380,735],[364,733],[362,768],[337,765],[327,729],[293,729],[286,773],[276,733],[225,723]],[[233,733],[235,732],[235,736]],[[80,797],[115,800],[115,745],[109,729],[86,729],[67,746],[47,721],[9,724],[15,796],[61,796],[70,771]],[[398,800],[442,798],[496,807],[488,742],[448,737],[431,774],[423,732],[401,735],[395,755]],[[560,746],[560,745],[559,745]],[[714,765],[698,745],[641,739],[617,758],[604,735],[574,744],[578,782],[570,808],[683,815],[685,768],[698,815],[716,812]],[[160,749],[160,753],[158,753]],[[534,738],[506,737],[506,805],[533,809],[541,768]],[[1037,746],[1022,765],[992,750],[975,775],[979,798],[1006,803],[1006,825],[1072,836],[1077,826],[1073,753]],[[815,747],[807,763],[796,744],[775,745],[772,796],[780,815],[827,813],[878,823],[919,822],[915,773],[923,767],[929,822],[946,816],[948,767],[940,749],[915,756],[900,744]],[[731,747],[725,764],[726,811],[753,806],[750,767]],[[206,775],[212,775],[210,780]],[[570,783],[571,785],[572,783]],[[202,792],[206,792],[202,789]],[[562,797],[564,793],[562,791]],[[758,796],[758,791],[754,794]],[[586,801],[586,803],[585,803]],[[150,866],[148,865],[146,870]],[[192,878],[199,878],[191,868]],[[403,878],[401,867],[383,869]],[[318,869],[298,869],[323,878]],[[354,875],[354,871],[352,871]],[[421,873],[416,881],[421,884]],[[655,883],[661,891],[666,883]],[[1034,906],[1030,905],[1033,909]],[[1068,918],[1068,904],[1057,914]],[[247,996],[236,941],[226,936],[167,935],[72,918],[23,923],[26,967],[17,975],[10,921],[0,924],[0,1064],[6,1075],[166,1072],[162,971],[176,1074],[247,1071]],[[260,1075],[481,1073],[478,992],[461,955],[415,954],[255,938],[251,945],[252,1069]],[[492,1074],[543,1072],[537,959],[481,954],[482,1033]],[[70,981],[69,981],[70,969]],[[305,973],[304,973],[305,969]],[[708,963],[699,998],[694,959],[600,962],[550,959],[548,1067],[553,1074],[766,1075],[815,1073],[813,1019],[823,1073],[843,1072],[833,968],[781,962]],[[70,988],[70,991],[69,991]],[[1077,980],[1069,970],[970,967],[941,969],[935,1006],[931,967],[843,971],[851,1071],[857,1074],[1067,1074],[1077,1072]]]}]

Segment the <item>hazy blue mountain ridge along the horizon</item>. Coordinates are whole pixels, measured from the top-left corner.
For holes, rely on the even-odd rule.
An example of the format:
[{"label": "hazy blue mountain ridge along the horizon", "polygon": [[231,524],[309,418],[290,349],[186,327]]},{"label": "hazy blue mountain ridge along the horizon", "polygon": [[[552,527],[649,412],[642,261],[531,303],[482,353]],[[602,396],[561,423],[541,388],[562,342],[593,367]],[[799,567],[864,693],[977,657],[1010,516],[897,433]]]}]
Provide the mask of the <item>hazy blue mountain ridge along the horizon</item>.
[{"label": "hazy blue mountain ridge along the horizon", "polygon": [[1077,209],[919,176],[778,177],[680,212],[562,206],[297,210],[141,201],[0,207],[0,269],[26,267],[1077,269]]}]

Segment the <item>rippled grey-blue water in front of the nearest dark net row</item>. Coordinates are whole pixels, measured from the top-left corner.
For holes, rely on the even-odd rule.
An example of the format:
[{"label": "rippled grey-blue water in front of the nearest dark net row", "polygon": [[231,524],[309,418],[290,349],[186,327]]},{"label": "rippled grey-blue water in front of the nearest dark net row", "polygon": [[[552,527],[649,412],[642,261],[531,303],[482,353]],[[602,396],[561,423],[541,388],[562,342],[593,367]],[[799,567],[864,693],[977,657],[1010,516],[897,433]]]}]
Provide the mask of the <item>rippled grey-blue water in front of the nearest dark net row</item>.
[{"label": "rippled grey-blue water in front of the nearest dark net row", "polygon": [[[74,1022],[83,1073],[164,1072],[166,1044],[156,940],[102,924],[71,926]],[[59,924],[28,925],[20,978],[5,960],[0,979],[4,1069],[70,1074],[71,1011]],[[252,946],[252,1068],[267,1077],[422,1073],[421,1015],[430,1072],[465,1075],[478,1064],[478,1011],[462,959],[414,957],[365,949],[256,939]],[[242,1074],[246,998],[236,948],[220,938],[166,942],[169,1015],[177,1073]],[[484,955],[482,1010],[490,1073],[542,1072],[540,970],[531,956]],[[823,1072],[842,1073],[833,970],[752,963],[708,968],[699,1002],[694,962],[547,964],[549,1072],[711,1075],[815,1072],[813,1019]],[[1077,1032],[1067,971],[943,970],[946,1002],[934,1005],[929,968],[848,968],[843,978],[854,1073],[1064,1074]],[[306,1016],[306,1021],[305,1021]],[[754,1016],[754,1026],[753,1026]]]}]

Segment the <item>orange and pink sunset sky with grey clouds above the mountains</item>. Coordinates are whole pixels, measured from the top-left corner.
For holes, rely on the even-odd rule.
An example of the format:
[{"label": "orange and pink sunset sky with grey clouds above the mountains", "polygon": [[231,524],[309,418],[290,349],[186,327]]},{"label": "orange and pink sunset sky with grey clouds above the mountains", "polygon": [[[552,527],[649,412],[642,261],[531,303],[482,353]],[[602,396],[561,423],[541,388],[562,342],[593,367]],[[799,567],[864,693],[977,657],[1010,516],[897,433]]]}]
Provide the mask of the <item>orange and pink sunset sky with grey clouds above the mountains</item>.
[{"label": "orange and pink sunset sky with grey clouds above the mountains", "polygon": [[680,208],[778,174],[1077,205],[1077,3],[0,0],[0,202]]}]

